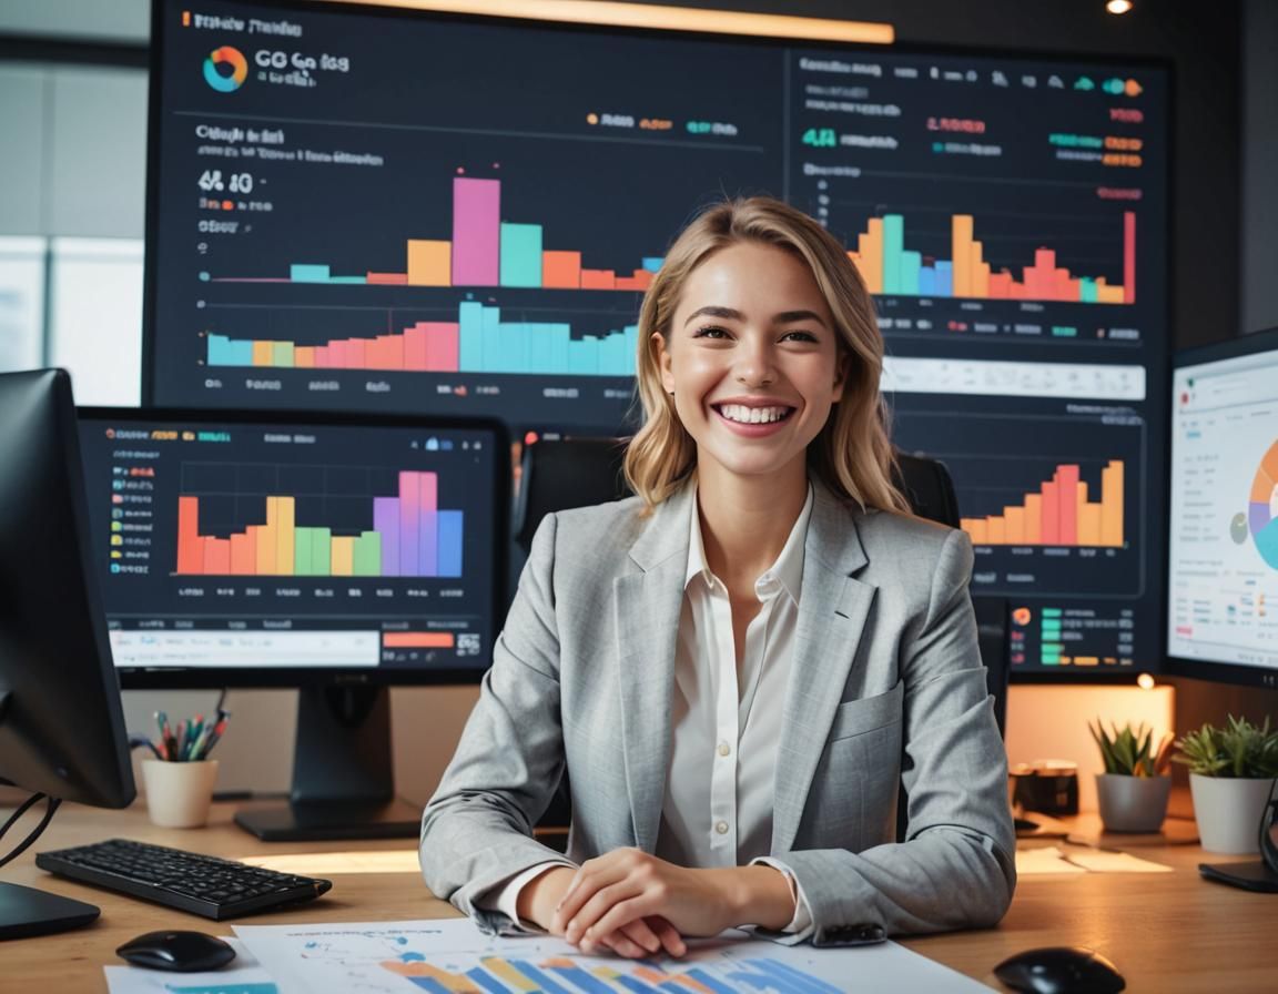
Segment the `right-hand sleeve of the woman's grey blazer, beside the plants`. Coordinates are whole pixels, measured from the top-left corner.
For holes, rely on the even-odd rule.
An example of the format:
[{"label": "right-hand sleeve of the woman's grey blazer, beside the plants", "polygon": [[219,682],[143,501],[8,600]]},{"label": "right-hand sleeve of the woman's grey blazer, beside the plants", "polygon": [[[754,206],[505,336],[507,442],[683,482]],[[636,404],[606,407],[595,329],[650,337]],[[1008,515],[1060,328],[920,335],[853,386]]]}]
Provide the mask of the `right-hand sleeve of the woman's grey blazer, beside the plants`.
[{"label": "right-hand sleeve of the woman's grey blazer, beside the plants", "polygon": [[1011,903],[1016,836],[1007,756],[976,646],[967,594],[971,565],[967,537],[951,531],[933,574],[927,618],[901,644],[906,839],[863,852],[773,853],[808,898],[814,942],[861,922],[889,934],[988,926]]}]

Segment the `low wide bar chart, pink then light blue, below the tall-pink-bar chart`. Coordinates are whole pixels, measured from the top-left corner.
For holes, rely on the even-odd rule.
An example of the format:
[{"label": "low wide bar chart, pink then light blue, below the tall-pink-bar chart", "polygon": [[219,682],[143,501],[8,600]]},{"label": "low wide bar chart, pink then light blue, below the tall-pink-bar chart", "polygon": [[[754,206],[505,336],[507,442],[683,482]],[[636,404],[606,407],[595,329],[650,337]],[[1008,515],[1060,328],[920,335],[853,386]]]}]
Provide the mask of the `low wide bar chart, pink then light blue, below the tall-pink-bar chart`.
[{"label": "low wide bar chart, pink then light blue, below the tall-pink-bar chart", "polygon": [[419,321],[391,335],[326,345],[208,335],[208,365],[385,369],[418,373],[635,373],[639,327],[573,337],[562,322],[502,321],[501,308],[463,302],[455,322]]}]

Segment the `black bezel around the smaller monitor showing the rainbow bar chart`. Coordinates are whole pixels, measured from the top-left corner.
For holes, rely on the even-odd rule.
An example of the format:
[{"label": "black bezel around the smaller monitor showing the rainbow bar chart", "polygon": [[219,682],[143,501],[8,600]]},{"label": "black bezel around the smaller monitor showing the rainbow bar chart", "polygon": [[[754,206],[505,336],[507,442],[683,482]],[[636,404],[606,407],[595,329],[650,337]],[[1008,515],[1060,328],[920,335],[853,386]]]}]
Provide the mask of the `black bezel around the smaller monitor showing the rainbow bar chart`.
[{"label": "black bezel around the smaller monitor showing the rainbow bar chart", "polygon": [[[478,431],[489,432],[495,441],[496,482],[493,493],[493,557],[491,562],[492,641],[496,643],[505,625],[509,608],[507,571],[510,558],[510,489],[511,442],[504,422],[496,418],[427,418],[399,415],[354,415],[317,411],[240,411],[208,410],[196,408],[77,408],[77,425],[86,420],[111,420],[115,423],[178,422],[198,427],[202,424],[263,424],[318,428],[395,428],[418,431]],[[86,523],[88,526],[88,523]],[[97,576],[97,565],[93,565]],[[101,588],[101,584],[98,584]],[[104,592],[105,604],[105,592]],[[488,657],[482,666],[442,668],[381,667],[115,667],[120,686],[125,690],[170,689],[198,690],[221,687],[276,687],[298,689],[309,686],[455,686],[478,684],[491,666]]]}]

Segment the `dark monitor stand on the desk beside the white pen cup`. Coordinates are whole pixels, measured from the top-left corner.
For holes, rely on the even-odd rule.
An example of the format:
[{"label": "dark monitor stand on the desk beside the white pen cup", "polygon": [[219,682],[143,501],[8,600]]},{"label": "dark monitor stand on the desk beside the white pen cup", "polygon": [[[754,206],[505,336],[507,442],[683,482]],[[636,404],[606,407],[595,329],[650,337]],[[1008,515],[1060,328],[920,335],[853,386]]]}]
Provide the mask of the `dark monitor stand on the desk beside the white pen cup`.
[{"label": "dark monitor stand on the desk beside the white pen cup", "polygon": [[235,824],[263,842],[417,838],[420,809],[395,797],[390,691],[303,687],[289,804],[239,810]]}]

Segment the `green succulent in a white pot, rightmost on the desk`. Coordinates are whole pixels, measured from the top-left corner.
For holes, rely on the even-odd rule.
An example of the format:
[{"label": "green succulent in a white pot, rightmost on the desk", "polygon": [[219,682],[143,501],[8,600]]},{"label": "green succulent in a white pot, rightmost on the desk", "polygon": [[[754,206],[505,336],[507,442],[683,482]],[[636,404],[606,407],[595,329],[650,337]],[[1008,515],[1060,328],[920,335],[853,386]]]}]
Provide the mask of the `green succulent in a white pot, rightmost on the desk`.
[{"label": "green succulent in a white pot, rightmost on the desk", "polygon": [[1204,724],[1176,744],[1190,768],[1194,818],[1203,848],[1259,852],[1260,819],[1278,777],[1278,730],[1228,715],[1223,728]]}]

